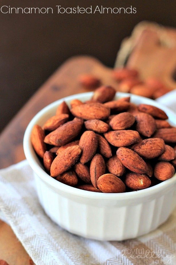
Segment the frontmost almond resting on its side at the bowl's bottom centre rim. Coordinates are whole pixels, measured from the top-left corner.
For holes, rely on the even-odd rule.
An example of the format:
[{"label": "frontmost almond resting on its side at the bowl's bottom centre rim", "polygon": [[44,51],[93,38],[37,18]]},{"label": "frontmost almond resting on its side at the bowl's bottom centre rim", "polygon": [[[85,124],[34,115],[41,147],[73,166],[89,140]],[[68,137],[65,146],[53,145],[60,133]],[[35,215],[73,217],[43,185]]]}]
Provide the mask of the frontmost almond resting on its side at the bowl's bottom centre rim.
[{"label": "frontmost almond resting on its side at the bowl's bottom centre rim", "polygon": [[104,193],[122,193],[126,191],[123,181],[113,174],[104,174],[98,178],[98,188]]}]

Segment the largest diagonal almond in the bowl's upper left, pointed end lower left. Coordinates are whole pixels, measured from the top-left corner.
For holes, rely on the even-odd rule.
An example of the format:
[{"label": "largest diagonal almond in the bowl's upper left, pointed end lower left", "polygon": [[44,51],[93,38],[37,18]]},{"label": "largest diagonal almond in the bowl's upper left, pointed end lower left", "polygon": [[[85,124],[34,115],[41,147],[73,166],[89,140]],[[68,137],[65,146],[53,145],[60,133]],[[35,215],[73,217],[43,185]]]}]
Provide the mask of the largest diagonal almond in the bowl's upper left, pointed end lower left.
[{"label": "largest diagonal almond in the bowl's upper left, pointed end lower left", "polygon": [[81,131],[83,120],[74,118],[73,120],[64,123],[56,130],[46,135],[44,142],[50,145],[65,145],[71,142]]}]

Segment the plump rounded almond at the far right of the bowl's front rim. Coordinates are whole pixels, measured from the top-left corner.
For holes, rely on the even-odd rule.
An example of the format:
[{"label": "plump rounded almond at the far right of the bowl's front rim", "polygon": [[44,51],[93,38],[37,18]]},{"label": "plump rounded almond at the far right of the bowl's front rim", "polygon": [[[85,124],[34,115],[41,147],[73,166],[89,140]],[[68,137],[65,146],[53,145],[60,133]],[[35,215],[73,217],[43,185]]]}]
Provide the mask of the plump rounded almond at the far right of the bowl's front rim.
[{"label": "plump rounded almond at the far right of the bowl's front rim", "polygon": [[169,162],[158,162],[154,167],[155,178],[162,181],[171,178],[174,173],[175,169]]}]

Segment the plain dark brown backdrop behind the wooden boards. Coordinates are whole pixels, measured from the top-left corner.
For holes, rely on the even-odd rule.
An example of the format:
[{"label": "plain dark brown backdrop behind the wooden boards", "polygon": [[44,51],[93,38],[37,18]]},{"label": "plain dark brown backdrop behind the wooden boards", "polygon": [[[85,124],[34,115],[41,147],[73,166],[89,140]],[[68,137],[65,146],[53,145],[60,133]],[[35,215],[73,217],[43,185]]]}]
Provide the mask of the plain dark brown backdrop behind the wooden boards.
[{"label": "plain dark brown backdrop behind the wooden boards", "polygon": [[[103,3],[104,2],[104,3]],[[174,1],[1,1],[52,7],[54,14],[0,13],[0,130],[69,57],[92,55],[113,67],[124,37],[142,20],[176,26]],[[62,7],[136,7],[136,14],[57,14]],[[76,91],[75,91],[76,92]]]}]

